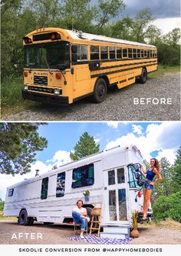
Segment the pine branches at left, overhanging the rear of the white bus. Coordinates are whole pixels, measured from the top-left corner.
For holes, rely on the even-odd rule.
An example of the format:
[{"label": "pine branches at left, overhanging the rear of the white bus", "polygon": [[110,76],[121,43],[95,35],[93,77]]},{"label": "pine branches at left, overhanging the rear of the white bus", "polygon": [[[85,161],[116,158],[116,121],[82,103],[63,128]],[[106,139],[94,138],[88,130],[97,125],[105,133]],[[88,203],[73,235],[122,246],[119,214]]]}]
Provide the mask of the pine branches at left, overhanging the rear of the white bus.
[{"label": "pine branches at left, overhanging the rear of the white bus", "polygon": [[36,152],[47,147],[48,141],[39,136],[41,123],[1,123],[0,172],[24,174],[31,171],[30,163]]}]

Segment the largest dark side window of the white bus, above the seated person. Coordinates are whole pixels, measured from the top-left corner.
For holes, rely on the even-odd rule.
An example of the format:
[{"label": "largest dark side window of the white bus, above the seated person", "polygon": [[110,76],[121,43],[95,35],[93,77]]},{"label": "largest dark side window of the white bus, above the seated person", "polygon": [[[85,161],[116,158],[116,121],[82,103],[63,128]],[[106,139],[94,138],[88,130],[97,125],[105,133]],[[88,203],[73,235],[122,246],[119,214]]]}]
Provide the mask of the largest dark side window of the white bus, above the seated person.
[{"label": "largest dark side window of the white bus, above the seated person", "polygon": [[94,184],[94,164],[88,164],[84,167],[78,167],[73,170],[72,188],[86,187]]}]

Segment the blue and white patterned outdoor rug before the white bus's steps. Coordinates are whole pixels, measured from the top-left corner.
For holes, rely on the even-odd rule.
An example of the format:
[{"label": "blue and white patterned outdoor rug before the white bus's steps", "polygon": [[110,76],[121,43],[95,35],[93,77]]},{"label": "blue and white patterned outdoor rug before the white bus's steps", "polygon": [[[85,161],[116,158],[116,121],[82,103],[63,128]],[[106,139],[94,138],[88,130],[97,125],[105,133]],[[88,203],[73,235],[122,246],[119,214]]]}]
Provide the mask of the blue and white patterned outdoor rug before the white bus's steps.
[{"label": "blue and white patterned outdoor rug before the white bus's steps", "polygon": [[69,237],[71,241],[86,241],[91,244],[127,244],[133,238],[129,237],[127,239],[113,239],[113,238],[106,238],[106,237],[98,237],[97,234],[87,234],[84,235],[84,239],[81,239],[79,235],[74,237]]}]

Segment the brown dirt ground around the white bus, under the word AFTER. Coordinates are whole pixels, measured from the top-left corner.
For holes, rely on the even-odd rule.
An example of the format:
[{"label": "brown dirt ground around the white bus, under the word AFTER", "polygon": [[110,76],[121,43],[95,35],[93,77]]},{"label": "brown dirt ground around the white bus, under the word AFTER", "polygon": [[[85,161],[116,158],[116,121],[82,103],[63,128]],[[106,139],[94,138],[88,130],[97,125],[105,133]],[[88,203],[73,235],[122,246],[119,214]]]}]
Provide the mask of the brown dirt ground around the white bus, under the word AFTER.
[{"label": "brown dirt ground around the white bus, under the word AFTER", "polygon": [[[140,237],[129,244],[181,244],[181,224],[172,221],[140,225],[138,230]],[[23,237],[16,239],[20,233],[23,233]],[[33,238],[36,239],[30,239],[29,233],[34,233]],[[39,233],[42,234],[42,239],[37,238],[37,235],[41,238]],[[73,226],[47,226],[38,222],[32,226],[20,226],[16,221],[0,221],[0,244],[87,244],[84,241],[70,241],[69,237],[73,235]]]}]

